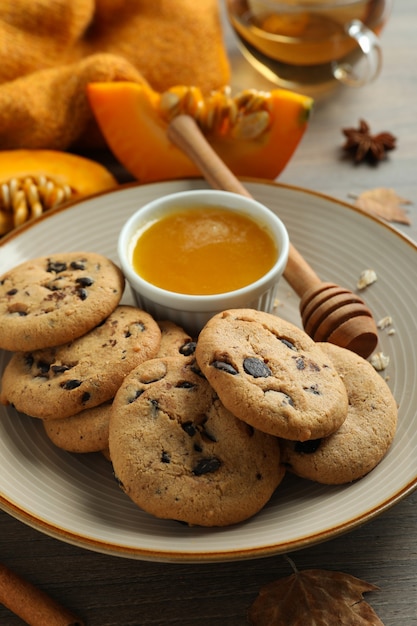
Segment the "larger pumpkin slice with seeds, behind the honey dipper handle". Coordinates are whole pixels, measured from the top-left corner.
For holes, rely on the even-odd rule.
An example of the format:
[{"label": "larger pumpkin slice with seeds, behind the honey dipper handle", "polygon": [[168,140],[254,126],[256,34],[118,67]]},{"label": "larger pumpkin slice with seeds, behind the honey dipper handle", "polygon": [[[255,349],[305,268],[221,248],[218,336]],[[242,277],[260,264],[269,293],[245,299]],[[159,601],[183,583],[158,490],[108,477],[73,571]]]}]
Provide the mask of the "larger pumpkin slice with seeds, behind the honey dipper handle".
[{"label": "larger pumpkin slice with seeds, behind the honey dipper handle", "polygon": [[197,167],[167,137],[179,113],[192,115],[236,176],[274,179],[300,142],[312,99],[290,91],[228,89],[203,96],[177,86],[160,94],[130,82],[90,83],[88,99],[101,132],[120,163],[140,182],[197,177]]}]

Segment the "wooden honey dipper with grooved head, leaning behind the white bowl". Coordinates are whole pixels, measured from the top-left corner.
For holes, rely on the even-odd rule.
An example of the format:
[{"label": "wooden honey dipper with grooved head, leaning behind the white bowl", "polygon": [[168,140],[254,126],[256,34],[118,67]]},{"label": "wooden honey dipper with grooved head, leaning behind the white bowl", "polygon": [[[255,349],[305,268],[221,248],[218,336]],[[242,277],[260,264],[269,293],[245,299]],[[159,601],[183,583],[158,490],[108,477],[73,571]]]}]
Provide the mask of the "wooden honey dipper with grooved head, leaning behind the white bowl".
[{"label": "wooden honey dipper with grooved head, leaning behind the white bowl", "polygon": [[[168,126],[168,138],[193,161],[213,188],[251,197],[192,117],[173,118]],[[304,330],[314,341],[329,341],[364,358],[374,351],[378,331],[363,300],[349,289],[322,282],[291,243],[284,278],[301,298]]]}]

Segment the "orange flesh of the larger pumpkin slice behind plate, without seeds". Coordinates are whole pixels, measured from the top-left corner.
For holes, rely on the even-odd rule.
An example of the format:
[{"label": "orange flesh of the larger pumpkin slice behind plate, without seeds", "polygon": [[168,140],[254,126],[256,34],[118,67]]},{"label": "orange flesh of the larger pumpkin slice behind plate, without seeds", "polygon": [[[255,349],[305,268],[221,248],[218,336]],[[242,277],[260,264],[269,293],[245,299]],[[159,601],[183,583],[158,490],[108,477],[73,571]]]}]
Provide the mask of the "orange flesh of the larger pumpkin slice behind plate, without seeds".
[{"label": "orange flesh of the larger pumpkin slice behind plate, without seeds", "polygon": [[[205,131],[211,146],[236,176],[276,178],[307,128],[311,98],[281,89],[270,95],[271,123],[260,136],[245,139]],[[147,85],[108,82],[90,83],[87,96],[108,147],[140,182],[201,176],[167,137],[160,93]]]}]

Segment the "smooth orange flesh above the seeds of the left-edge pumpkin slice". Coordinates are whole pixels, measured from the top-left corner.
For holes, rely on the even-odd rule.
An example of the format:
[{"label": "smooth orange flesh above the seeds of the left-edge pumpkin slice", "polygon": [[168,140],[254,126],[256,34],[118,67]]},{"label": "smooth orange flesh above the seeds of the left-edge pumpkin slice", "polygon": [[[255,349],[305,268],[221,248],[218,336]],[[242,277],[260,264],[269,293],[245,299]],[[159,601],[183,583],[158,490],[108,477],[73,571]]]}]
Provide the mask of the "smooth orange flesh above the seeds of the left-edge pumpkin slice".
[{"label": "smooth orange flesh above the seeds of the left-edge pumpkin slice", "polygon": [[0,150],[0,183],[11,178],[48,176],[85,196],[117,185],[114,176],[96,161],[59,150]]}]

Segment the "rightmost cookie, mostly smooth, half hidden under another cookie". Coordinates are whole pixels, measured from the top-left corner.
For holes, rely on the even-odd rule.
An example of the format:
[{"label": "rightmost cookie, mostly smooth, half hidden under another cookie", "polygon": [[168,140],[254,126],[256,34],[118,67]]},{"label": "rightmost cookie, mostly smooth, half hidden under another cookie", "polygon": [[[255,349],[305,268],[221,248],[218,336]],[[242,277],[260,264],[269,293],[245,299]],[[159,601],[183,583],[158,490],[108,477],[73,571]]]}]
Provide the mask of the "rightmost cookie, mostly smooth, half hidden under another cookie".
[{"label": "rightmost cookie, mostly smooth, half hidden under another cookie", "polygon": [[397,405],[368,361],[330,343],[319,345],[346,385],[347,418],[329,437],[283,441],[283,460],[303,478],[330,485],[349,483],[368,474],[384,457],[395,435]]}]

